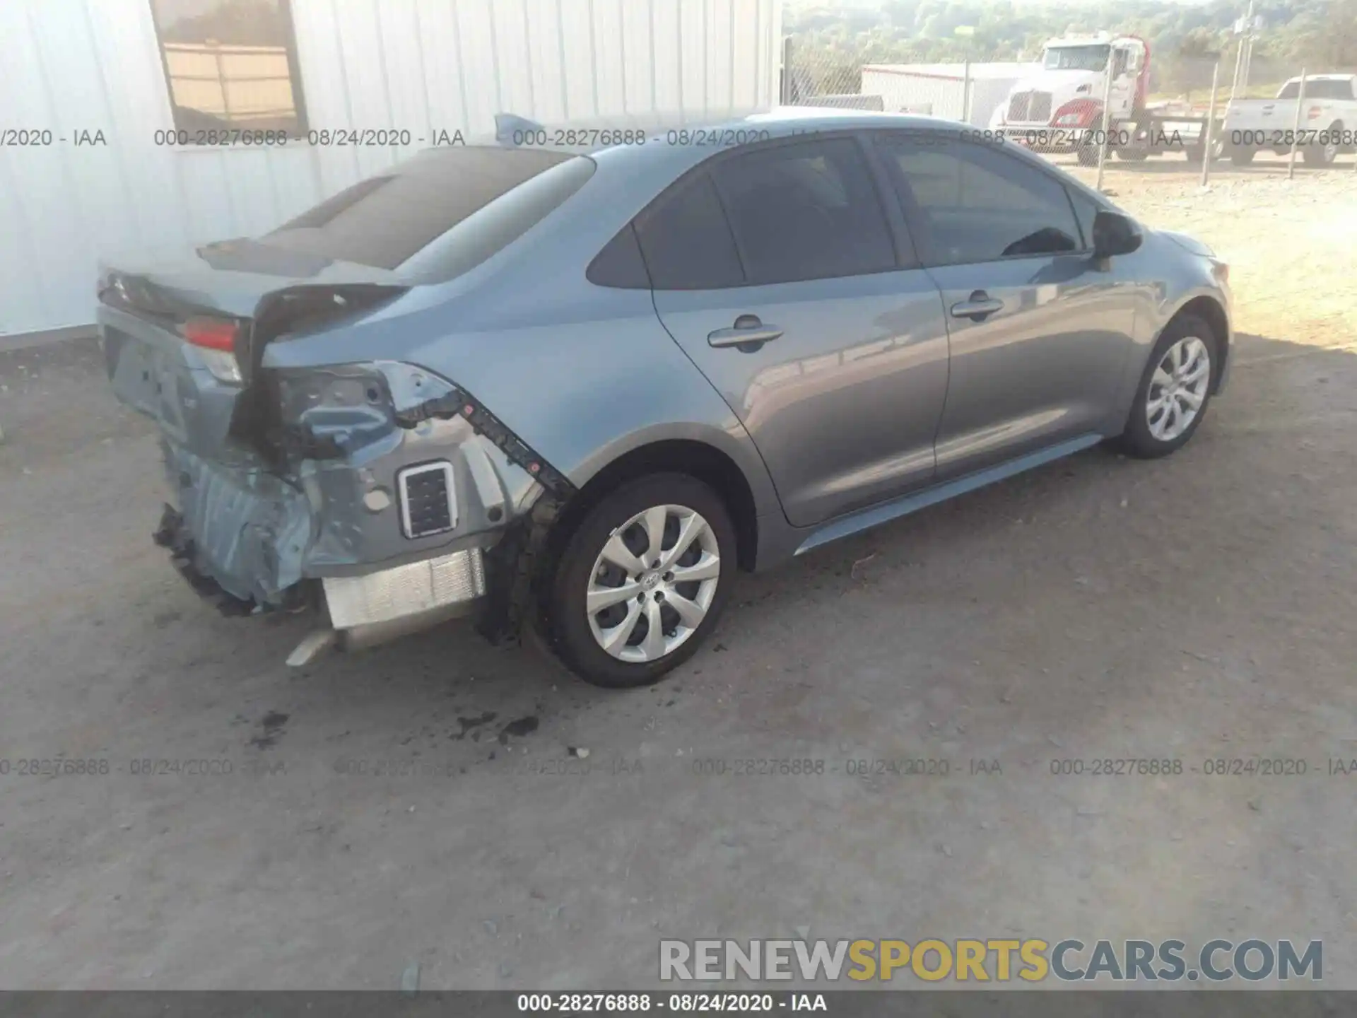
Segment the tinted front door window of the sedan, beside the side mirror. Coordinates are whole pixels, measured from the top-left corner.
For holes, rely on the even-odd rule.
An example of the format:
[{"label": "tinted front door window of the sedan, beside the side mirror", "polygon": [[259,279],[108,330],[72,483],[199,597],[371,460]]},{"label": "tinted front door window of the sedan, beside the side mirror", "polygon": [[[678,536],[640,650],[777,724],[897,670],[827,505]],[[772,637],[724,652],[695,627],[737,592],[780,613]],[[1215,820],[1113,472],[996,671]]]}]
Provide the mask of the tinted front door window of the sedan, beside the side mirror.
[{"label": "tinted front door window of the sedan, beside the side mirror", "polygon": [[901,201],[920,220],[930,265],[1052,255],[1082,247],[1064,186],[992,145],[885,138]]}]

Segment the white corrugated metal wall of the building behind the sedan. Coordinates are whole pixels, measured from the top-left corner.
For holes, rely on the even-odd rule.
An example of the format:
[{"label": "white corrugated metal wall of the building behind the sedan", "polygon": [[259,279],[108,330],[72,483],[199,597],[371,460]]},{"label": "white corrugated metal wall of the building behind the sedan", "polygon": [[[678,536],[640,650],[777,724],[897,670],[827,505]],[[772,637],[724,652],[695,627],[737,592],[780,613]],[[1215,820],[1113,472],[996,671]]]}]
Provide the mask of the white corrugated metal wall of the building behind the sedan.
[{"label": "white corrugated metal wall of the building behind the sedan", "polygon": [[[768,109],[780,0],[292,0],[311,128],[480,133]],[[258,233],[411,149],[172,149],[147,0],[0,0],[0,335],[84,324],[99,258]],[[102,130],[106,147],[76,147]],[[425,143],[427,144],[427,141]]]}]

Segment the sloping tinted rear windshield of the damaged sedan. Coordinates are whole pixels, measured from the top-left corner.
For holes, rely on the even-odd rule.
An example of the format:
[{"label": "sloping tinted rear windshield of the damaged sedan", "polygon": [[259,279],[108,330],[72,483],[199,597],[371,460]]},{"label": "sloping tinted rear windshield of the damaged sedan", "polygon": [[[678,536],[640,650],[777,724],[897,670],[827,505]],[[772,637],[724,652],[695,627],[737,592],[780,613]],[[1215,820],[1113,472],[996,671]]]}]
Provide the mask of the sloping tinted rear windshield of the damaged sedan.
[{"label": "sloping tinted rear windshield of the damaged sedan", "polygon": [[[267,233],[263,243],[320,258],[395,269],[463,220],[520,185],[565,163],[554,201],[535,202],[539,219],[593,172],[582,156],[547,149],[448,147],[421,152],[356,183]],[[532,224],[517,224],[527,229]]]}]

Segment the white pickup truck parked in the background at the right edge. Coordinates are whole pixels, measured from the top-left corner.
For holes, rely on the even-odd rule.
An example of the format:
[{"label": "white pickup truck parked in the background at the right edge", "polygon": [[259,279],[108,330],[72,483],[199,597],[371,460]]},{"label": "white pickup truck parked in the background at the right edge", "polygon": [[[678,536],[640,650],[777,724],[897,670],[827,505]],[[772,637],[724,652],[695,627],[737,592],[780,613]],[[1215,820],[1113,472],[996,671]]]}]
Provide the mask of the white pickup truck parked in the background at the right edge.
[{"label": "white pickup truck parked in the background at the right edge", "polygon": [[[1296,103],[1304,102],[1300,129]],[[1232,99],[1225,107],[1221,148],[1235,166],[1246,166],[1265,149],[1282,155],[1295,140],[1307,163],[1329,166],[1339,152],[1357,148],[1357,75],[1293,77],[1276,99]]]}]

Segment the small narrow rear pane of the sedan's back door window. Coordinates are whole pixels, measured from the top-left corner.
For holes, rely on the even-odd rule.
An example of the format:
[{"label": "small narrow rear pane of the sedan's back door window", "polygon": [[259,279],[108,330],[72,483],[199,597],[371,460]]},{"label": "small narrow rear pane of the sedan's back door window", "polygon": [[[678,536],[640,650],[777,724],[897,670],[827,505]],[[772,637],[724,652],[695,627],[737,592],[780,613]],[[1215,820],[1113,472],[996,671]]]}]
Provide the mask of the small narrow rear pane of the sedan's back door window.
[{"label": "small narrow rear pane of the sedan's back door window", "polygon": [[636,216],[636,238],[658,290],[706,290],[745,281],[716,190],[697,174]]}]

